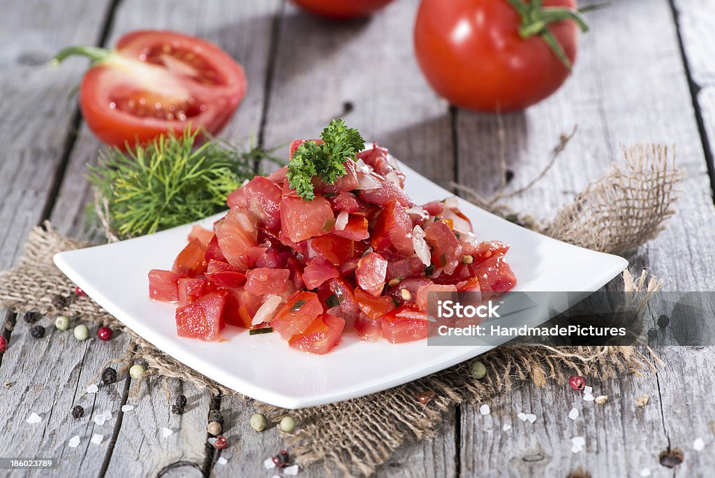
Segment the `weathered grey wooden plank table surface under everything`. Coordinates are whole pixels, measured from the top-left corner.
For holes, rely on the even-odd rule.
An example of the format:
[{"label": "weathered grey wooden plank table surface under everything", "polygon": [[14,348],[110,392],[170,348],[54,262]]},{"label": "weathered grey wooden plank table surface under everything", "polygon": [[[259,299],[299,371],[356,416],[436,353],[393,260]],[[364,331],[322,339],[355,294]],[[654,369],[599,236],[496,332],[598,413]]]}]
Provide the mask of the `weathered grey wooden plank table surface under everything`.
[{"label": "weathered grey wooden plank table surface under everything", "polygon": [[[372,19],[330,24],[282,0],[0,0],[0,269],[14,263],[42,220],[87,238],[84,207],[91,193],[84,173],[99,142],[67,101],[87,62],[70,59],[59,69],[47,64],[68,44],[112,45],[134,29],[203,36],[242,62],[250,88],[224,137],[255,133],[263,145],[278,145],[315,137],[342,116],[433,180],[493,192],[500,182],[497,119],[451,108],[425,83],[411,41],[417,4],[397,0]],[[666,278],[666,289],[712,291],[715,6],[709,0],[617,0],[588,16],[593,31],[582,36],[573,77],[547,101],[503,118],[515,173],[510,187],[534,177],[558,136],[578,124],[558,167],[512,205],[550,217],[607,170],[621,143],[674,144],[687,174],[679,213],[630,259]],[[654,317],[662,312],[653,311]],[[9,351],[0,355],[0,384],[11,384],[0,387],[0,457],[58,457],[57,473],[67,477],[272,476],[262,461],[282,447],[280,436],[275,429],[250,430],[253,410],[242,401],[212,401],[171,381],[172,393],[189,399],[184,415],[169,412],[159,383],[122,414],[123,404],[134,403],[129,379],[92,398],[82,392],[102,364],[122,357],[126,337],[77,343],[48,328],[35,340],[21,317],[0,310],[0,323],[6,321],[17,326]],[[666,366],[657,374],[593,384],[596,394],[610,397],[603,406],[587,406],[563,386],[523,384],[496,398],[489,416],[480,416],[478,406],[451,409],[435,439],[405,445],[378,475],[565,477],[581,467],[593,477],[646,476],[644,469],[653,477],[712,476],[715,353],[693,347],[658,353]],[[651,403],[636,407],[633,399],[641,394]],[[86,418],[71,418],[74,404],[84,406]],[[575,422],[566,418],[572,406],[581,409]],[[215,464],[206,446],[212,408],[225,415],[232,442],[227,464]],[[536,423],[518,421],[521,410],[533,411]],[[26,424],[32,411],[43,416],[41,424]],[[91,417],[104,411],[112,411],[112,420],[94,424]],[[504,423],[513,428],[502,431]],[[163,439],[163,426],[176,432]],[[94,433],[104,435],[102,445],[89,444]],[[69,448],[75,434],[82,444]],[[573,454],[570,439],[577,435],[586,437],[586,449]],[[706,442],[699,453],[693,449],[698,437]],[[674,469],[659,464],[669,447],[684,452]],[[312,467],[300,476],[324,474]]]}]

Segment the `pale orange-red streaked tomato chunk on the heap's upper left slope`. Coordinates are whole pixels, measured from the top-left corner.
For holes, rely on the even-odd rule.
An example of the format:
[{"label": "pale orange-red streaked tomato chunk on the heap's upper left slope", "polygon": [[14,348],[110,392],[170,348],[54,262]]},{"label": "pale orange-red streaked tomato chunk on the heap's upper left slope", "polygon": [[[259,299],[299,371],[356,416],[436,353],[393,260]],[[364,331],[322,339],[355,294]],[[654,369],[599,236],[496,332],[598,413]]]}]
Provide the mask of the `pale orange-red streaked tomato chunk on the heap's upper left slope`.
[{"label": "pale orange-red streaked tomato chunk on the heap's upper left slope", "polygon": [[219,247],[231,265],[247,268],[248,251],[257,245],[256,218],[246,208],[235,206],[217,233]]}]

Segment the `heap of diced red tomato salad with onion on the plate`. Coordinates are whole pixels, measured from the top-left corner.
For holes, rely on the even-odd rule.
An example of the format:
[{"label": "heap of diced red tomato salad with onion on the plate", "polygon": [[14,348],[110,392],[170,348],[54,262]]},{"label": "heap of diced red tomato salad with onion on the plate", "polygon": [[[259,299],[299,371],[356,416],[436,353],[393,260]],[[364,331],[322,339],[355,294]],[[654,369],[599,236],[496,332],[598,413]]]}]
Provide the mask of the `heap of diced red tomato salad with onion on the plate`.
[{"label": "heap of diced red tomato salad with onion on the plate", "polygon": [[178,303],[179,336],[212,341],[237,326],[311,353],[343,333],[415,341],[428,335],[428,292],[516,284],[508,245],[475,240],[453,197],[415,205],[388,150],[373,144],[342,165],[332,184],[312,178],[312,200],[290,187],[290,163],[255,177],[213,230],[194,225],[172,270],[149,272],[149,296]]}]

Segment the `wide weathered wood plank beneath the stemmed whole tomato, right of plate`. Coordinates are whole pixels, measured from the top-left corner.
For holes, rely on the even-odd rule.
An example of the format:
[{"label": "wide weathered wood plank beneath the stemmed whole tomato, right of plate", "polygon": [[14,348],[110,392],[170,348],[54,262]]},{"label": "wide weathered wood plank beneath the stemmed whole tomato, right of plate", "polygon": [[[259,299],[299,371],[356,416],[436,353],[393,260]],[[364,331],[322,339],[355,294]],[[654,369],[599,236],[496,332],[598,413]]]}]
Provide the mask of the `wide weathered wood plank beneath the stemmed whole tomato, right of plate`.
[{"label": "wide weathered wood plank beneath the stemmed whole tomato, right of plate", "polygon": [[[618,155],[619,142],[675,143],[678,163],[687,173],[679,215],[636,257],[652,273],[668,279],[670,290],[711,289],[715,258],[702,248],[710,235],[702,225],[715,223],[715,211],[669,4],[617,2],[593,13],[591,21],[593,31],[583,38],[579,63],[565,87],[524,114],[504,117],[506,156],[515,172],[512,187],[536,176],[558,135],[579,126],[558,166],[513,200],[513,206],[548,218],[607,169]],[[633,40],[624,40],[623,32]],[[458,127],[460,180],[488,194],[498,184],[497,122],[490,116],[459,112]],[[696,436],[707,434],[706,420],[696,426],[686,414],[676,414],[674,404],[693,400],[698,395],[694,390],[708,389],[701,388],[703,379],[692,371],[713,357],[711,351],[695,354],[680,348],[659,353],[666,369],[658,376],[596,382],[596,393],[611,396],[605,406],[574,399],[568,387],[525,385],[495,401],[493,409],[503,410],[505,418],[482,417],[477,408],[468,408],[462,421],[463,470],[565,476],[581,466],[593,476],[638,476],[647,467],[653,476],[672,474],[661,467],[658,454],[669,444],[691,447]],[[636,409],[633,399],[644,393],[651,395],[651,404]],[[700,397],[694,403],[713,407],[711,398]],[[576,423],[566,416],[574,404],[587,410]],[[515,418],[522,409],[538,415],[536,424]],[[502,431],[502,421],[513,428]],[[485,424],[493,425],[491,434]],[[586,452],[572,454],[570,439],[577,435],[586,437]],[[536,447],[541,447],[544,459],[531,457]],[[475,454],[475,449],[488,451]],[[679,472],[705,474],[712,466],[711,458],[700,454]]]}]

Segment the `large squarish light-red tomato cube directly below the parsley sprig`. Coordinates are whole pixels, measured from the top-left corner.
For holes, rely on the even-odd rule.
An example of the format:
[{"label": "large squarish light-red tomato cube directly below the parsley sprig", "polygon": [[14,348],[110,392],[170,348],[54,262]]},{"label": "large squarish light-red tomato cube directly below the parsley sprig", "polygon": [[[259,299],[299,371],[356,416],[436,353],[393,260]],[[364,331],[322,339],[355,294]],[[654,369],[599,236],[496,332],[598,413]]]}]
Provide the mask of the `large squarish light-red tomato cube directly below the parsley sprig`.
[{"label": "large squarish light-red tomato cube directly below the parsley sprig", "polygon": [[318,235],[325,235],[335,228],[335,216],[327,199],[322,196],[312,201],[300,197],[283,197],[280,203],[281,233],[295,243]]}]

